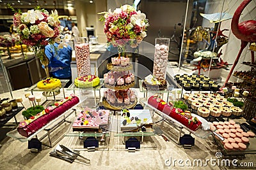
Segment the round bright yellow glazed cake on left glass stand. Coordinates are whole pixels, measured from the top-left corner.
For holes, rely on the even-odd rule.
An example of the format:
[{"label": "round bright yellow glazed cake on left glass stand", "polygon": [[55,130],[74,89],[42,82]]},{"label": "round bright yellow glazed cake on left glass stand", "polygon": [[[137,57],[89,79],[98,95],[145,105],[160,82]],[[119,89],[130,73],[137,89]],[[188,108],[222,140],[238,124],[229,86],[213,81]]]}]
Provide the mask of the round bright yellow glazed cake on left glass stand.
[{"label": "round bright yellow glazed cake on left glass stand", "polygon": [[37,83],[38,89],[50,90],[61,87],[61,81],[58,78],[46,78],[45,80]]}]

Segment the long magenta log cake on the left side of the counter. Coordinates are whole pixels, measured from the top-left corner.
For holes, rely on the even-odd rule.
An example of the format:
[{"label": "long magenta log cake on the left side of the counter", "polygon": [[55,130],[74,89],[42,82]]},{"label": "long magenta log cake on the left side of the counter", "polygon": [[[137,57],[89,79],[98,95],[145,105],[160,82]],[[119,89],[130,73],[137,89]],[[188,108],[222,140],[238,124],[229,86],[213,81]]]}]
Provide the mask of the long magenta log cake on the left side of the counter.
[{"label": "long magenta log cake on the left side of the counter", "polygon": [[74,94],[71,94],[70,96],[65,97],[65,99],[54,103],[54,106],[48,106],[34,117],[20,122],[17,131],[22,136],[28,138],[31,134],[44,127],[44,125],[51,122],[51,120],[54,120],[54,118],[59,117],[62,113],[69,110],[77,103],[79,103],[79,98]]}]

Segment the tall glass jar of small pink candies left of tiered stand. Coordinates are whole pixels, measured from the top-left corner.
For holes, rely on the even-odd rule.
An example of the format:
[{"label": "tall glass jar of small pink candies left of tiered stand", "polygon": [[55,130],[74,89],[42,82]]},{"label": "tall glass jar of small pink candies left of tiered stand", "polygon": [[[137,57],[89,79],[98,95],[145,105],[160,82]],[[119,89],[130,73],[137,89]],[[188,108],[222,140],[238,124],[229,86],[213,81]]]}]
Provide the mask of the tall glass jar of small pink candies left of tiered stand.
[{"label": "tall glass jar of small pink candies left of tiered stand", "polygon": [[77,76],[91,74],[90,47],[87,37],[77,37],[74,39],[76,52]]}]

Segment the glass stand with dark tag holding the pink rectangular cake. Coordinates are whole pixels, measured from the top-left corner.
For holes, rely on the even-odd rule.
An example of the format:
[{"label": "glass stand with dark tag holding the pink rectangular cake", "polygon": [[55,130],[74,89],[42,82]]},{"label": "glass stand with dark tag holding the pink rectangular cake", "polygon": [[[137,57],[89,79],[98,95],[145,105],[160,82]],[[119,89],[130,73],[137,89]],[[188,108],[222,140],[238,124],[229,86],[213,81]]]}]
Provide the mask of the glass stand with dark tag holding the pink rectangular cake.
[{"label": "glass stand with dark tag holding the pink rectangular cake", "polygon": [[[63,143],[65,143],[65,146],[67,145],[68,148],[72,148],[73,150],[87,150],[88,152],[95,151],[95,150],[109,150],[109,143],[110,143],[110,136],[111,136],[110,127],[111,127],[111,120],[113,118],[113,114],[114,114],[113,111],[109,111],[108,125],[106,125],[106,127],[100,127],[100,129],[97,129],[97,131],[73,131],[72,124],[71,124],[67,131],[67,134],[65,134],[65,139],[63,140]],[[73,119],[72,123],[74,122],[75,119]],[[95,141],[98,147],[97,146],[84,147],[85,145],[90,145],[90,143],[88,144],[88,141],[86,141],[88,137],[95,138]]]}]

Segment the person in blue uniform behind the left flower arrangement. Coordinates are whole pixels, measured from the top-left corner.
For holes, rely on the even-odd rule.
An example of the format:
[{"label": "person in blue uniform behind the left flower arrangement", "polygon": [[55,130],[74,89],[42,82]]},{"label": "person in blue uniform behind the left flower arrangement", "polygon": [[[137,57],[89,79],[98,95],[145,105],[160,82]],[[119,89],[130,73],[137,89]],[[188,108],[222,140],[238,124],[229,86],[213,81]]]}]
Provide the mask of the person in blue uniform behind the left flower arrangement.
[{"label": "person in blue uniform behind the left flower arrangement", "polygon": [[72,48],[70,45],[58,49],[58,43],[45,46],[45,55],[49,59],[49,72],[52,78],[69,80],[65,87],[72,83],[70,62],[72,60]]}]

